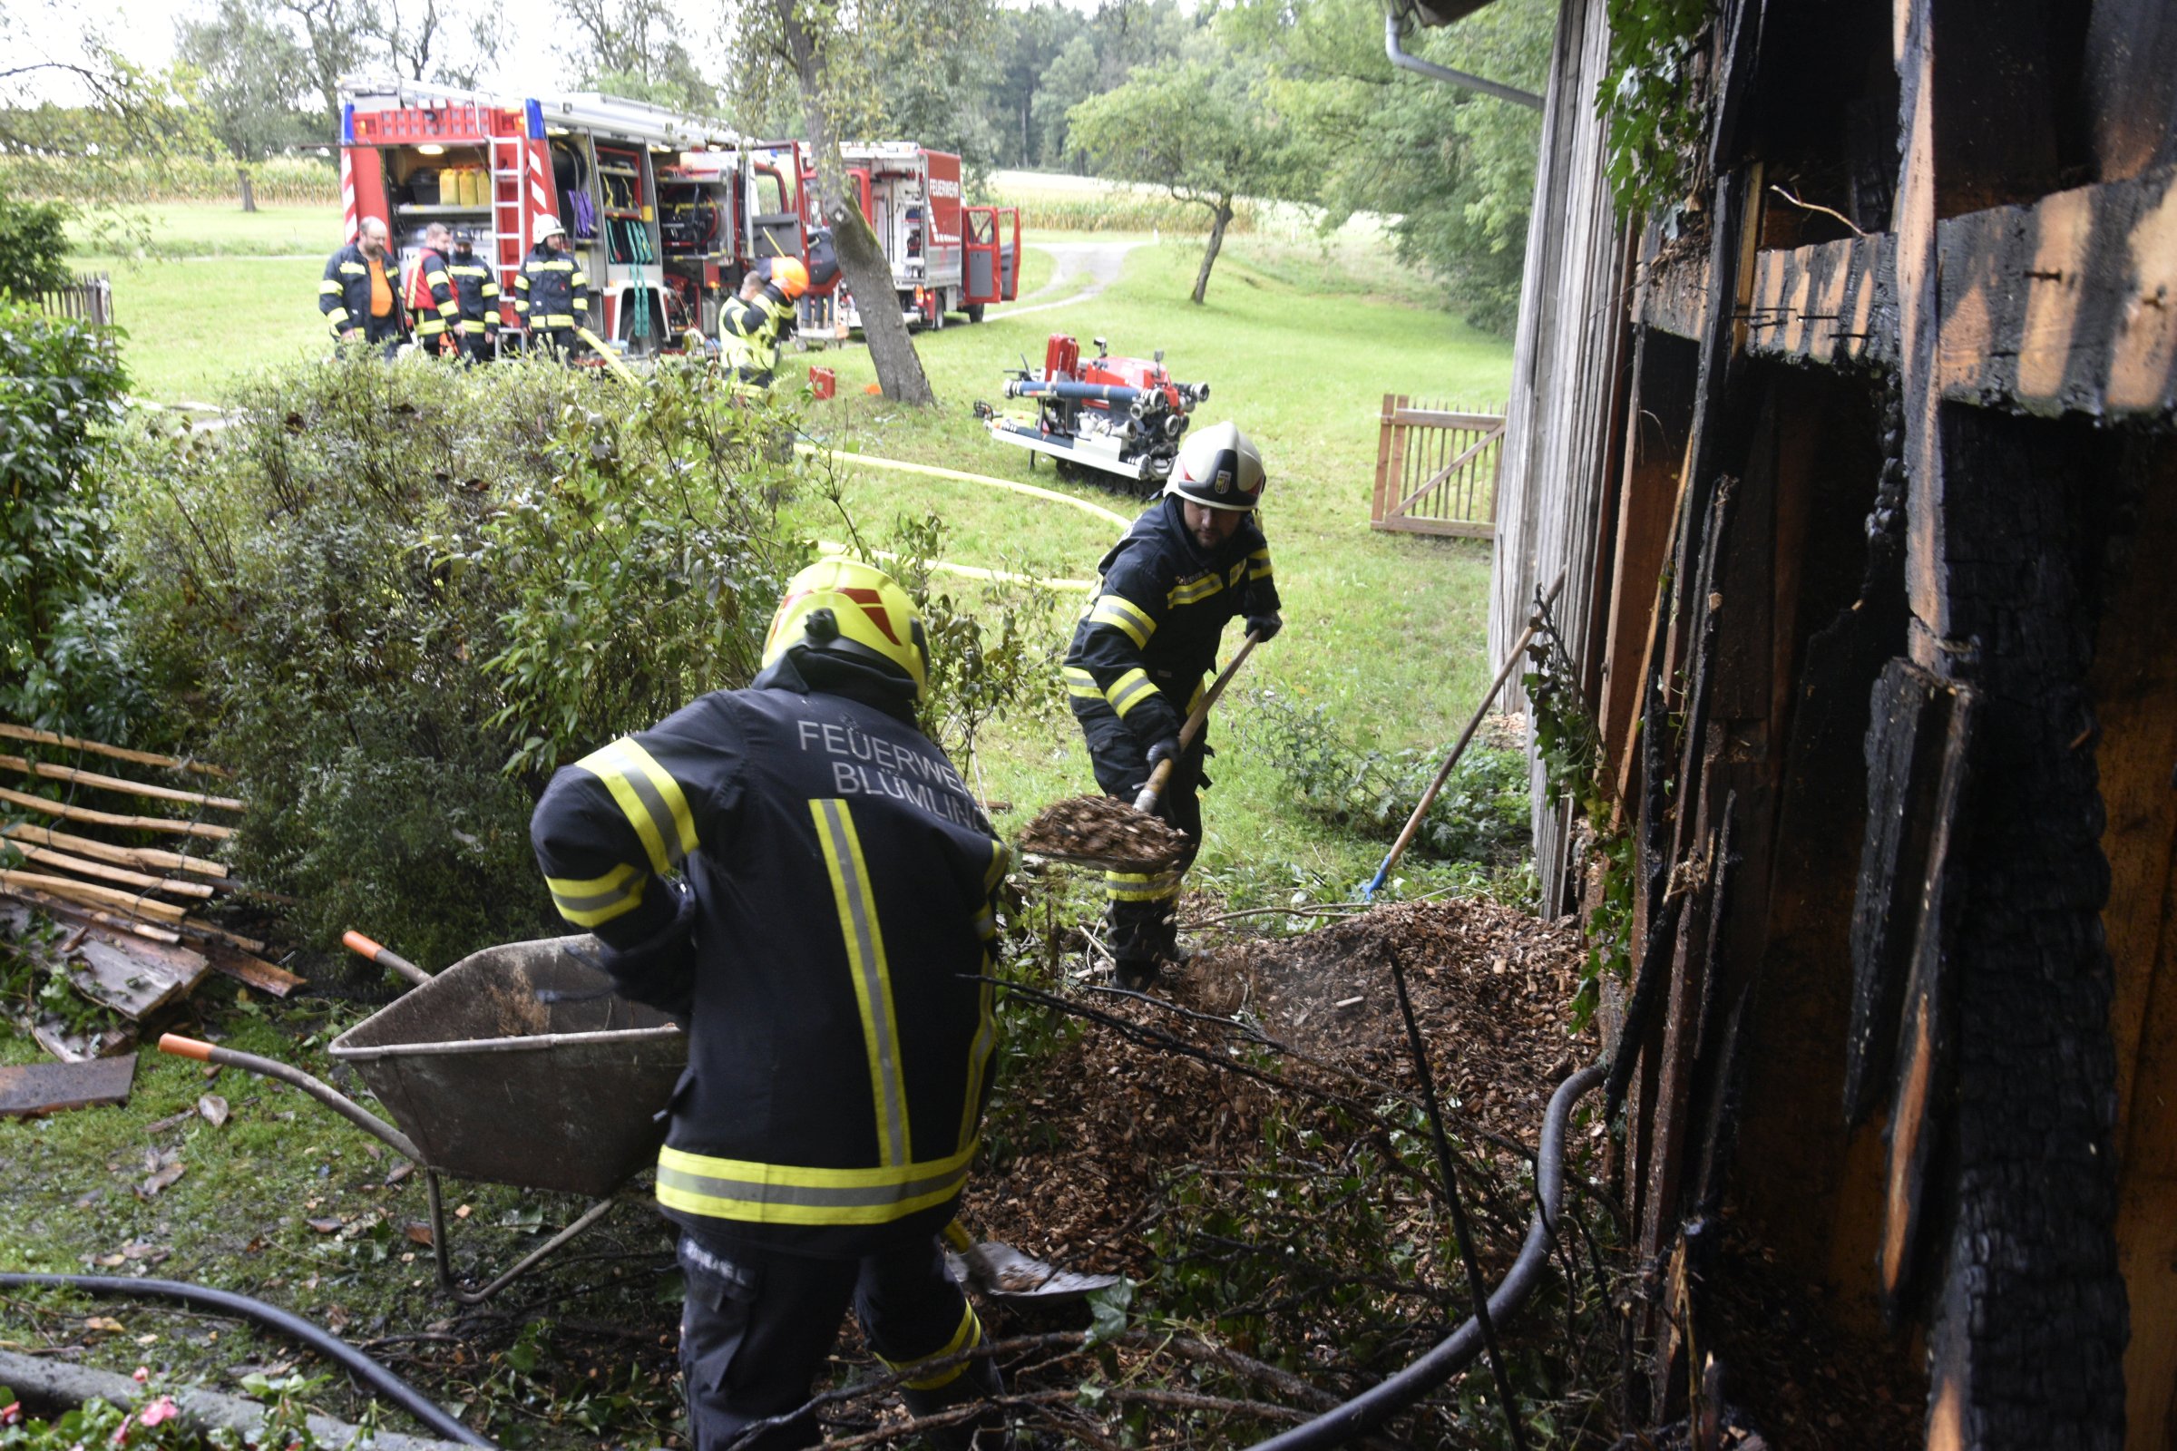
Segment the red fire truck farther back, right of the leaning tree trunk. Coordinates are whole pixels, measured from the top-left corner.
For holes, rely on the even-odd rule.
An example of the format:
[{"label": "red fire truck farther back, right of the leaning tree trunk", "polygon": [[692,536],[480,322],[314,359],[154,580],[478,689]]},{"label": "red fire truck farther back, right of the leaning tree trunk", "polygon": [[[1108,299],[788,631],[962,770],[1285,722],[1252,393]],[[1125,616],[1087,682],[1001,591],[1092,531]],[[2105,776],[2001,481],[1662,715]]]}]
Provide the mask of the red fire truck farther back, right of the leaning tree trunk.
[{"label": "red fire truck farther back, right of the leaning tree trunk", "polygon": [[[940,328],[947,313],[982,322],[991,302],[1010,302],[1021,281],[1021,213],[962,207],[960,157],[914,141],[840,146],[862,215],[893,263],[908,324]],[[838,296],[838,322],[862,326],[856,300]]]}]

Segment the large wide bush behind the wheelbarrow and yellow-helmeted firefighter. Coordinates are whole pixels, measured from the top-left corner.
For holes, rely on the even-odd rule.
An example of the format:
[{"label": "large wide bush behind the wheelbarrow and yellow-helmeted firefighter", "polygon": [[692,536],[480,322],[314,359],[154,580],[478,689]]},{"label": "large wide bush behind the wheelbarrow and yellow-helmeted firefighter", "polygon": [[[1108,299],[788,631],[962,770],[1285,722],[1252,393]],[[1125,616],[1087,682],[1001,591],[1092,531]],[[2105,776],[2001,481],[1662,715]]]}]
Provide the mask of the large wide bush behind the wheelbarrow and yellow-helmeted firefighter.
[{"label": "large wide bush behind the wheelbarrow and yellow-helmeted firefighter", "polygon": [[250,803],[246,879],[427,964],[553,931],[559,761],[745,685],[803,550],[768,409],[662,370],[359,357],[126,452],[135,642]]}]

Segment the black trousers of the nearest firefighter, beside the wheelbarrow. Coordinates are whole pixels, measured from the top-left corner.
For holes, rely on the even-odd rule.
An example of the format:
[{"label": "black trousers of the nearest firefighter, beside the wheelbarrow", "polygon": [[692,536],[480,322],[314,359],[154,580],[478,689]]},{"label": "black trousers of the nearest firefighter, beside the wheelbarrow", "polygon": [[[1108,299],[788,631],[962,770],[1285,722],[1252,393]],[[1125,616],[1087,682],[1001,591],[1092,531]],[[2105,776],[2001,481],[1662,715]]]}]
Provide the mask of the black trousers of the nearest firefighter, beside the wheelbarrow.
[{"label": "black trousers of the nearest firefighter, beside the wheelbarrow", "polygon": [[[742,1451],[814,1447],[816,1416],[795,1416],[853,1303],[871,1349],[908,1373],[901,1399],[923,1416],[943,1405],[999,1394],[991,1360],[967,1360],[917,1377],[919,1362],[943,1360],[982,1342],[982,1323],[945,1268],[936,1238],[860,1260],[810,1260],[751,1251],[681,1229],[681,1373],[694,1451],[718,1451],[760,1421],[786,1418]],[[954,1431],[954,1427],[947,1427]],[[973,1425],[934,1436],[940,1447],[971,1447]]]}]

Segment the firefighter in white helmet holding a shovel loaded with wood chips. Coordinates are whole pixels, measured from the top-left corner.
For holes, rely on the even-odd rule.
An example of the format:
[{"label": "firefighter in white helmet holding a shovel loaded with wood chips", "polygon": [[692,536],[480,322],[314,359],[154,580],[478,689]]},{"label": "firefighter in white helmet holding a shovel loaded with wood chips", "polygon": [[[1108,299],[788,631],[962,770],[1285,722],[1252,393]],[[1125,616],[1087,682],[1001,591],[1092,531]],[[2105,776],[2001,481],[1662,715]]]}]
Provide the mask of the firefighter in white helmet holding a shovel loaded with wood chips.
[{"label": "firefighter in white helmet holding a shovel loaded with wood chips", "polygon": [[1067,648],[1067,698],[1106,796],[1132,801],[1158,761],[1178,757],[1156,814],[1186,833],[1184,861],[1156,875],[1104,875],[1123,988],[1147,988],[1160,964],[1180,959],[1180,875],[1202,846],[1195,792],[1208,785],[1208,731],[1180,751],[1180,727],[1217,666],[1223,627],[1239,616],[1263,640],[1282,629],[1269,544],[1254,518],[1263,483],[1263,457],[1234,424],[1189,435],[1165,496],[1097,563],[1102,581]]}]

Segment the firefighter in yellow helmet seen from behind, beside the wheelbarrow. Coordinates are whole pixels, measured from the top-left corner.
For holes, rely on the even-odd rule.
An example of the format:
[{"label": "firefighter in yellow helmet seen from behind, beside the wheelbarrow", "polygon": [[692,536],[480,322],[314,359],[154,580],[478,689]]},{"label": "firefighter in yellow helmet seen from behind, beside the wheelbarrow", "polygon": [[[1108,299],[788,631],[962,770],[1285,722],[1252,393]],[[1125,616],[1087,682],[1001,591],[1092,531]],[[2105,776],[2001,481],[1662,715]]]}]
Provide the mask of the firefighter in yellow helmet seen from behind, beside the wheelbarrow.
[{"label": "firefighter in yellow helmet seen from behind, beside the wheelbarrow", "polygon": [[[923,622],[882,570],[788,585],[749,690],[559,770],[531,840],[620,992],[688,1029],[657,1155],[697,1451],[810,1399],[851,1301],[908,1410],[1001,1381],[936,1240],[991,1090],[1008,853],[914,724]],[[973,1427],[940,1444],[967,1447]],[[816,1442],[799,1416],[745,1447]]]}]

